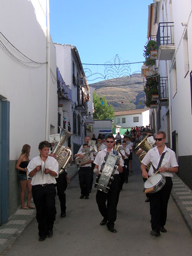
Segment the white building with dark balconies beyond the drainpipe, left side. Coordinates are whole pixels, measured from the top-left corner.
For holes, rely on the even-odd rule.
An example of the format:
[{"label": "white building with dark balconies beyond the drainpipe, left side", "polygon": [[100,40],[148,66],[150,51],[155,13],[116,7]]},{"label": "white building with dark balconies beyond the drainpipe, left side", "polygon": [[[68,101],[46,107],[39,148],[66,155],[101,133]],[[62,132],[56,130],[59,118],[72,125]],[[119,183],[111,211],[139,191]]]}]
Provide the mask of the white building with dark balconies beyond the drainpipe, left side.
[{"label": "white building with dark balconies beyond the drainpipe, left side", "polygon": [[[61,120],[65,118],[66,127],[73,135],[70,137],[70,148],[73,155],[78,152],[84,143],[86,126],[84,124],[87,116],[87,102],[90,99],[90,91],[81,64],[78,50],[69,44],[55,43],[57,54],[57,67],[60,71],[65,86],[70,90],[68,99],[60,99],[62,104]],[[92,111],[93,112],[93,111]]]}]

